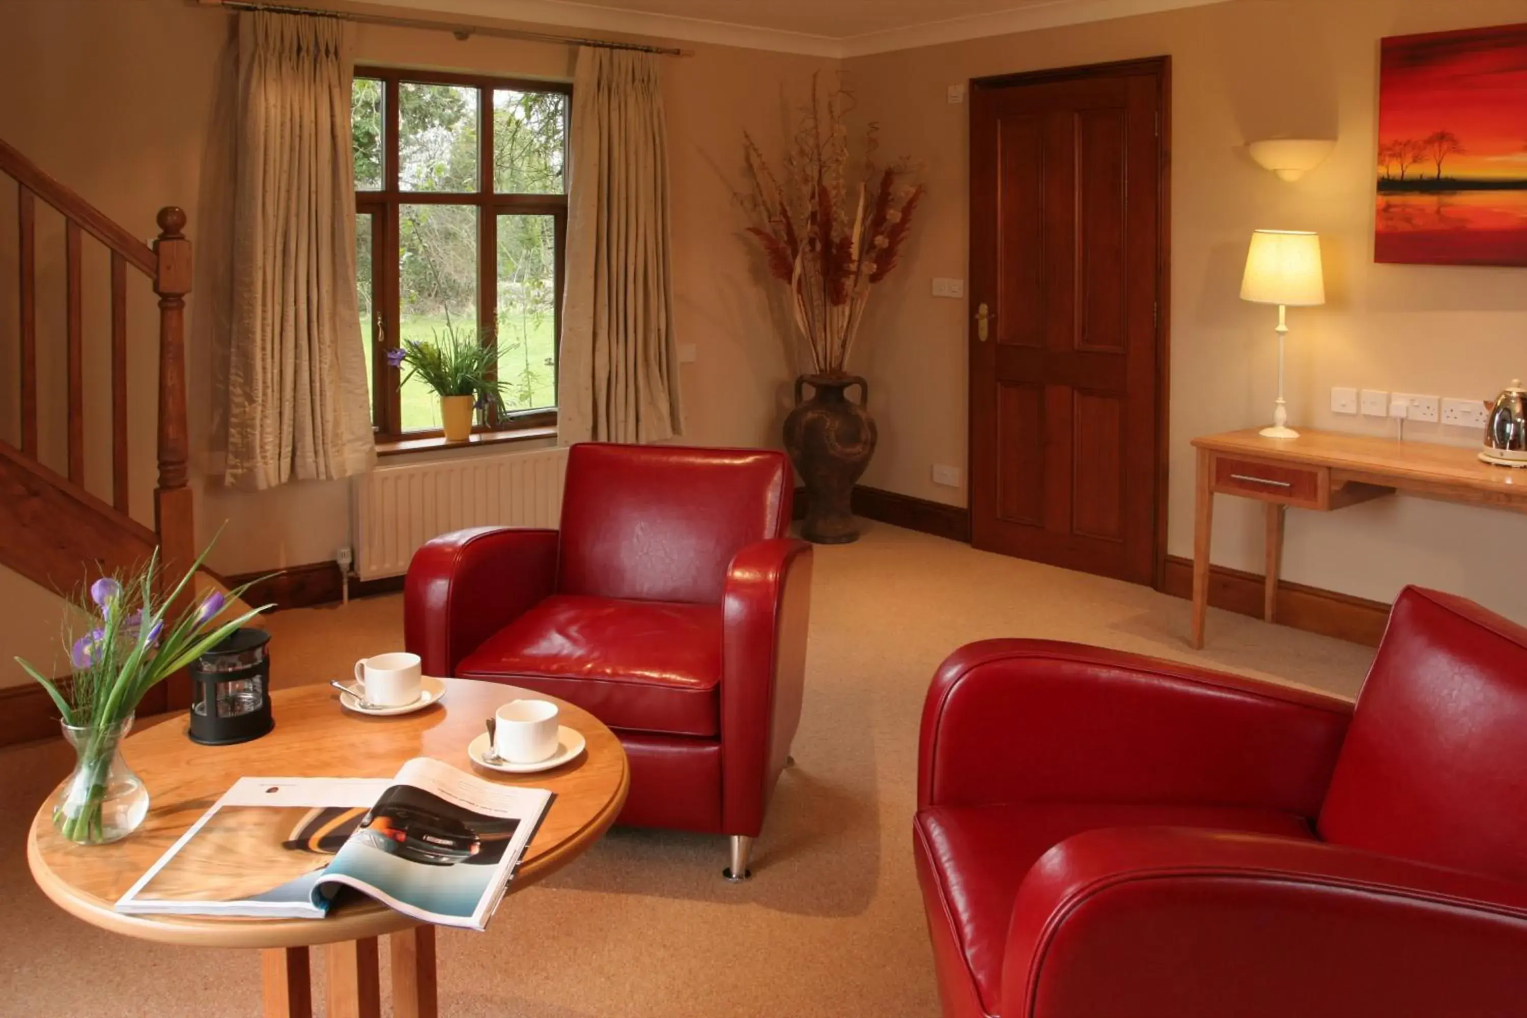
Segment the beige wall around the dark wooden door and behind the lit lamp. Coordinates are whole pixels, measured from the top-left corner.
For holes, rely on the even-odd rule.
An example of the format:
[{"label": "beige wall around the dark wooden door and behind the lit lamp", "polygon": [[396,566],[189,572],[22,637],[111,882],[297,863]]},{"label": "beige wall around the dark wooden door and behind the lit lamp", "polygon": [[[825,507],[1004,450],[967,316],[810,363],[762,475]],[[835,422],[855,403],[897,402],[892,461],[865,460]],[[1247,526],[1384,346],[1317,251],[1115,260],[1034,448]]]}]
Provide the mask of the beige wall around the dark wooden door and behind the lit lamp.
[{"label": "beige wall around the dark wooden door and behind the lit lamp", "polygon": [[[1371,240],[1379,38],[1522,20],[1524,0],[1235,0],[849,60],[861,116],[880,121],[884,151],[928,162],[916,243],[898,290],[876,295],[861,340],[857,369],[878,389],[881,433],[866,482],[965,504],[964,488],[931,484],[930,467],[965,467],[967,307],[928,288],[933,276],[970,275],[968,107],[950,105],[945,89],[985,75],[1171,55],[1171,554],[1193,548],[1190,440],[1270,414],[1275,311],[1238,299],[1254,229],[1324,237],[1330,304],[1290,311],[1295,424],[1382,433],[1330,414],[1336,385],[1493,398],[1527,375],[1527,273],[1376,266]],[[1275,134],[1339,143],[1319,169],[1284,183],[1243,151]],[[1441,432],[1412,424],[1409,433]],[[1238,499],[1220,499],[1215,511],[1215,562],[1260,572],[1260,513]],[[1527,620],[1518,569],[1501,559],[1503,549],[1519,557],[1524,543],[1521,516],[1391,498],[1292,513],[1284,574],[1380,600],[1428,583]]]}]

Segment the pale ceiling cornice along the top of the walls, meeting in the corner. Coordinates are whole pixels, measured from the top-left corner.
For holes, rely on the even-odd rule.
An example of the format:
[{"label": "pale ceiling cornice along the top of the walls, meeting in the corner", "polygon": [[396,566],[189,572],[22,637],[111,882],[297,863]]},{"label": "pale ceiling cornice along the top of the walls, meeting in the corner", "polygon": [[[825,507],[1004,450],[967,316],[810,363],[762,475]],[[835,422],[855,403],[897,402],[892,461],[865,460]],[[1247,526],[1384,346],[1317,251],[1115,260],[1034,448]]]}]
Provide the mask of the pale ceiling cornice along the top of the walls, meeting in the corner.
[{"label": "pale ceiling cornice along the top of the walls, meeting in the corner", "polygon": [[368,0],[377,6],[409,8],[435,14],[455,14],[533,24],[554,24],[563,29],[596,32],[620,32],[628,35],[658,37],[713,46],[741,46],[745,49],[802,53],[808,56],[866,56],[919,46],[959,43],[991,35],[1032,32],[1063,24],[1084,24],[1109,18],[1124,18],[1136,14],[1154,14],[1177,8],[1200,8],[1228,0],[1048,0],[1046,3],[977,14],[945,21],[927,21],[884,32],[867,32],[834,38],[806,32],[687,18],[667,14],[647,14],[606,8],[599,3],[577,0]]}]

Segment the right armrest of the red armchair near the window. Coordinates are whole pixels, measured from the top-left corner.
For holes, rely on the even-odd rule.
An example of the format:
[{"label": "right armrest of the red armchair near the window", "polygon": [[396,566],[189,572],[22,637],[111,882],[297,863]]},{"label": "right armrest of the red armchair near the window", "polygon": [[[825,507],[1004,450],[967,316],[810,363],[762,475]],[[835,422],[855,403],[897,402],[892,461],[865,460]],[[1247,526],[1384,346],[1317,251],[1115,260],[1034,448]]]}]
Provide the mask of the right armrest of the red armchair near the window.
[{"label": "right armrest of the red armchair near the window", "polygon": [[756,836],[800,723],[811,545],[776,537],[727,568],[721,638],[722,833]]}]

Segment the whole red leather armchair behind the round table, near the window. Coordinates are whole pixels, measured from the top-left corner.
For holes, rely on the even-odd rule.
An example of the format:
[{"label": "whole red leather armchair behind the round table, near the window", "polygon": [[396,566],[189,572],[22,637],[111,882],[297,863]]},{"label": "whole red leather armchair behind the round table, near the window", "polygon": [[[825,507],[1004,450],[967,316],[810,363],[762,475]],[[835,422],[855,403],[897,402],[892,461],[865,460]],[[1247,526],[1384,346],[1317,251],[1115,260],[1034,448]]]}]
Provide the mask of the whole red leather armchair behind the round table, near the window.
[{"label": "whole red leather armchair behind the round table, near the window", "polygon": [[560,530],[484,527],[415,552],[405,639],[426,675],[559,696],[631,762],[618,823],[748,853],[800,720],[811,545],[782,453],[579,444]]}]

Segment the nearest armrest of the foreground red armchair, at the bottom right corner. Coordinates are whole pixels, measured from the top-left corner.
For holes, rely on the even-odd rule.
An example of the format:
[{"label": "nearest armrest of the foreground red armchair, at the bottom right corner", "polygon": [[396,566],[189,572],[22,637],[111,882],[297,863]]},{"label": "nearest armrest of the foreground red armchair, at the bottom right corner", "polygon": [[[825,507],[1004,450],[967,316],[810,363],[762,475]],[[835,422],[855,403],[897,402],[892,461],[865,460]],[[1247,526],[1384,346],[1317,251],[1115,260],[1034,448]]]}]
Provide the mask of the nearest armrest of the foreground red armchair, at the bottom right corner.
[{"label": "nearest armrest of the foreground red armchair, at the bottom right corner", "polygon": [[1318,841],[1089,830],[1019,887],[1002,1013],[1518,1013],[1527,887]]}]

